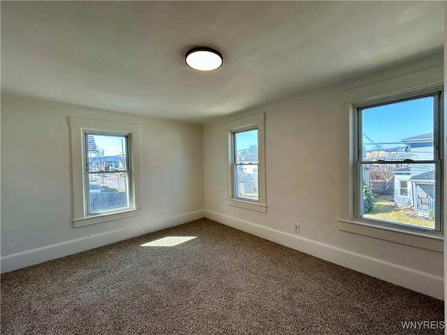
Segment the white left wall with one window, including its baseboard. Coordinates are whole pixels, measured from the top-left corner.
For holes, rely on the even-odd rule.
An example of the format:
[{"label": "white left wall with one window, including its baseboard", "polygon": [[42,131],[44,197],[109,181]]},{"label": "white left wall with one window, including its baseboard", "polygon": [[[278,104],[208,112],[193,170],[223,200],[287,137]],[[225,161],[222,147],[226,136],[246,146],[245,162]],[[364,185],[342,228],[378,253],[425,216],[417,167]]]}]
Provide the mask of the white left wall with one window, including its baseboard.
[{"label": "white left wall with one window, including its baseboard", "polygon": [[[141,216],[73,228],[68,117],[140,124]],[[202,126],[1,95],[1,270],[203,217]]]}]

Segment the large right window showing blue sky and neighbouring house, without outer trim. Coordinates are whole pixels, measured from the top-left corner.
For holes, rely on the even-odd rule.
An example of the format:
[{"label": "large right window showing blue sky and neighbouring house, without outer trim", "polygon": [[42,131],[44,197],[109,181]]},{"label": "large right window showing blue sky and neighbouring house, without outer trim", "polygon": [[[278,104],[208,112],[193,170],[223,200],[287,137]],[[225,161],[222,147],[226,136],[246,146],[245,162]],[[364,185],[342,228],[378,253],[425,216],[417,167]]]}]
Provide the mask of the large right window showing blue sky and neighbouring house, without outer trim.
[{"label": "large right window showing blue sky and neighbouring house, without outer trim", "polygon": [[356,108],[356,218],[441,232],[441,93]]}]

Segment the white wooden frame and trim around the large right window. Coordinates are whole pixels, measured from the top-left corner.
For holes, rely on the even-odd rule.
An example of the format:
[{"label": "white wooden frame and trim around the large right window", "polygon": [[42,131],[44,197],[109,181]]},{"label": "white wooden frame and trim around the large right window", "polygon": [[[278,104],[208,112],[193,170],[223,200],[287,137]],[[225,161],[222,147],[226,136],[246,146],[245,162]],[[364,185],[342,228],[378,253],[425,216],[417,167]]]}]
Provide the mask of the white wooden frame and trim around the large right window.
[{"label": "white wooden frame and trim around the large right window", "polygon": [[[435,68],[437,70],[437,68]],[[342,188],[342,190],[346,190],[346,193],[343,193],[341,196],[343,199],[340,203],[340,217],[339,221],[339,230],[344,232],[351,232],[355,234],[361,234],[368,237],[374,237],[377,239],[383,239],[387,241],[393,241],[400,244],[406,244],[409,246],[416,246],[418,248],[425,248],[431,251],[444,251],[444,213],[443,205],[444,199],[441,199],[441,196],[444,196],[444,183],[442,183],[441,176],[437,176],[437,184],[441,189],[437,198],[439,199],[438,207],[438,218],[440,220],[440,228],[438,231],[425,231],[411,228],[402,228],[400,225],[387,225],[382,224],[380,222],[366,221],[364,219],[360,219],[356,217],[356,136],[357,136],[357,120],[356,120],[356,107],[360,105],[372,105],[374,103],[390,103],[392,101],[397,100],[407,100],[410,98],[414,98],[416,96],[427,96],[429,94],[435,93],[437,91],[441,92],[440,101],[444,99],[444,85],[442,81],[436,77],[439,75],[438,71],[432,71],[430,69],[428,71],[435,75],[432,79],[432,84],[422,84],[420,82],[420,86],[411,87],[411,84],[414,82],[400,80],[400,91],[395,91],[395,93],[384,94],[384,87],[393,87],[396,86],[396,82],[394,80],[388,80],[385,82],[378,82],[376,84],[371,84],[367,87],[362,87],[362,89],[353,89],[351,91],[345,91],[337,96],[337,101],[339,104],[346,104],[345,106],[349,110],[349,165],[348,165],[348,178],[346,179],[346,188]],[[430,77],[429,76],[429,77]],[[399,86],[399,85],[397,85]],[[380,95],[374,96],[372,94],[366,94],[365,92],[377,93],[381,92]],[[352,103],[348,102],[348,99],[353,101]],[[356,101],[356,102],[354,102]],[[436,126],[438,135],[434,135],[439,138],[439,153],[441,158],[444,158],[442,155],[444,154],[444,142],[443,142],[443,125],[444,125],[444,105],[440,103],[439,105],[439,125]],[[444,172],[444,161],[441,161],[439,164],[439,168],[437,168],[437,174],[441,174]],[[441,172],[442,170],[442,172]],[[347,196],[346,196],[347,195]]]}]

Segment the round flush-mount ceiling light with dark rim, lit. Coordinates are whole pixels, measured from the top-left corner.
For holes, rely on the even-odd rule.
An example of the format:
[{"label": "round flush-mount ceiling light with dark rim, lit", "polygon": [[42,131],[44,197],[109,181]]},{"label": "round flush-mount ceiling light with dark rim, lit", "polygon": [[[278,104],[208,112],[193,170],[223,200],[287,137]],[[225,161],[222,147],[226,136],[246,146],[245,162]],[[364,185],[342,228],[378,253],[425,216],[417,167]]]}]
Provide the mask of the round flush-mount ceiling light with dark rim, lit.
[{"label": "round flush-mount ceiling light with dark rim, lit", "polygon": [[184,61],[194,70],[212,71],[222,66],[223,58],[219,51],[211,47],[195,47],[186,52]]}]

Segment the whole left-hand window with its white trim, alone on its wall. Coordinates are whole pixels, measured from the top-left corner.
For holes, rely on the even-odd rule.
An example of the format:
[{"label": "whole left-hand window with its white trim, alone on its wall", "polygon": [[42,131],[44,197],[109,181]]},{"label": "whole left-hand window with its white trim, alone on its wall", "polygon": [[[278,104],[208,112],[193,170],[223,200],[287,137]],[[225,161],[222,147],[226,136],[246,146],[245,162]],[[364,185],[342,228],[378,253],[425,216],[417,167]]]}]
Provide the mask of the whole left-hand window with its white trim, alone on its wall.
[{"label": "whole left-hand window with its white trim, alone on its wall", "polygon": [[72,117],[75,227],[140,214],[139,126]]}]

